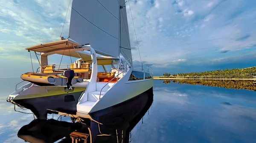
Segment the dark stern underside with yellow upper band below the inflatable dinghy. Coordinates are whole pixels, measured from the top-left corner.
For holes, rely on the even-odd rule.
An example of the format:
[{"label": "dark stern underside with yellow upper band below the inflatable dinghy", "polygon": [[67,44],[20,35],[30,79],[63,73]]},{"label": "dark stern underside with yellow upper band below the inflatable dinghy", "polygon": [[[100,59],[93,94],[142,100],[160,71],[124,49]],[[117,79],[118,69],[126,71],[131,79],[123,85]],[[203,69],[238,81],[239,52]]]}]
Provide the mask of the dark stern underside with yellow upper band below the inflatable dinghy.
[{"label": "dark stern underside with yellow upper band below the inflatable dinghy", "polygon": [[[55,88],[64,90],[63,87]],[[59,92],[62,94],[54,94],[58,93],[56,89],[51,91],[52,93],[17,96],[12,103],[30,109],[38,119],[47,119],[47,114],[58,114],[58,112],[76,115],[76,104],[84,90],[85,88],[75,87],[74,92],[68,94],[64,91]]]}]

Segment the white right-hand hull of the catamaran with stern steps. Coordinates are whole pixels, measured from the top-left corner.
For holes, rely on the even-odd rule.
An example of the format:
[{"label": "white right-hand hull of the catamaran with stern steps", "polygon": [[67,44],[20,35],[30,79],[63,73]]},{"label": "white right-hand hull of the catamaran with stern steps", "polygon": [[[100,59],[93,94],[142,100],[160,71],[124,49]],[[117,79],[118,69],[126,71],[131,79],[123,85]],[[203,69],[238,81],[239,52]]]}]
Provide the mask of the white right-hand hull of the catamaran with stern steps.
[{"label": "white right-hand hull of the catamaran with stern steps", "polygon": [[[87,106],[90,94],[88,94],[87,96],[87,101],[79,101],[79,103],[77,104],[78,115],[80,117],[86,118],[88,113],[96,112],[101,109],[105,109],[116,104],[122,103],[131,98],[134,98],[135,96],[153,87],[153,79],[128,81],[132,71],[132,69],[128,70],[128,72],[121,79],[119,79],[118,82],[113,84],[113,86],[106,90],[103,95],[101,95],[101,98],[99,100],[97,100],[94,103],[90,101],[90,106]],[[97,85],[100,84],[96,83],[96,86]]]}]

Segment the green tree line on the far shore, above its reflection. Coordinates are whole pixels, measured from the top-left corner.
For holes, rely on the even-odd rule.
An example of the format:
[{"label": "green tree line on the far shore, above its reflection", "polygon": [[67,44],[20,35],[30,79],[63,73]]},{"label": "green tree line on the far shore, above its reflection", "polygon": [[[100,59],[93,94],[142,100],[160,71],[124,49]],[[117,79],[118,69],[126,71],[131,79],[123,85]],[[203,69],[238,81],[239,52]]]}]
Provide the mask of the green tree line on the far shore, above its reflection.
[{"label": "green tree line on the far shore, above its reflection", "polygon": [[165,78],[186,78],[186,79],[251,79],[256,76],[256,67],[233,68],[224,70],[212,70],[192,73],[163,73]]}]

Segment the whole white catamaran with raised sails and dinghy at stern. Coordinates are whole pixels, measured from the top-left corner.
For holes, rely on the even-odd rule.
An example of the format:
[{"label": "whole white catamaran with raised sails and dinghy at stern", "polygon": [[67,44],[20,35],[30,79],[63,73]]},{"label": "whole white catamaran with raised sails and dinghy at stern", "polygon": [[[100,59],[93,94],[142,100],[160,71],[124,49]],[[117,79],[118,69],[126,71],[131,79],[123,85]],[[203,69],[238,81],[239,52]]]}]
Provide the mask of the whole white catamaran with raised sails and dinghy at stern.
[{"label": "whole white catamaran with raised sails and dinghy at stern", "polygon": [[[69,38],[26,50],[40,56],[40,67],[20,76],[28,83],[7,101],[38,119],[55,113],[99,121],[153,86],[151,67],[132,59],[125,0],[73,0]],[[55,54],[76,61],[49,64]]]}]

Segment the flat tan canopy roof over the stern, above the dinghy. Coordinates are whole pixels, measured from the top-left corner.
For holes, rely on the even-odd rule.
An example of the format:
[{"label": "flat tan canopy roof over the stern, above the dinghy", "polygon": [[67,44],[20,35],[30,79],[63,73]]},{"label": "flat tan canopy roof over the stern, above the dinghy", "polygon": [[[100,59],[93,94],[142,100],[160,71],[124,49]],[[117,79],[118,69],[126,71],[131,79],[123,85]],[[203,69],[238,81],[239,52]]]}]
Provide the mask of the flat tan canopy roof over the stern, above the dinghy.
[{"label": "flat tan canopy roof over the stern, above the dinghy", "polygon": [[38,45],[35,45],[32,47],[26,48],[26,50],[48,53],[48,52],[53,52],[56,50],[73,49],[73,46],[78,48],[79,46],[81,46],[81,44],[74,42],[72,40],[69,40],[69,39],[64,39],[64,40],[60,40],[60,41],[38,44]]}]

